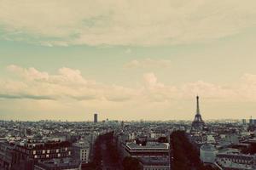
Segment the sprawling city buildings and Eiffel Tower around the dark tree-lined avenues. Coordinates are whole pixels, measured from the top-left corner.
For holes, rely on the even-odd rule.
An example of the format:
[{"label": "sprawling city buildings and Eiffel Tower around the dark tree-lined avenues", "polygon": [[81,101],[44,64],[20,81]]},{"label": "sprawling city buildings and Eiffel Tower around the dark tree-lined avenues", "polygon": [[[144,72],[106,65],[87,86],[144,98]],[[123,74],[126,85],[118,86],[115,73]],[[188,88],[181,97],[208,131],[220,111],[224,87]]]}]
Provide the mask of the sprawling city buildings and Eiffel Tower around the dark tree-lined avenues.
[{"label": "sprawling city buildings and Eiffel Tower around the dark tree-lined avenues", "polygon": [[[97,137],[114,132],[111,142],[116,144],[119,162],[131,156],[143,170],[170,170],[175,157],[169,137],[177,130],[185,132],[205,164],[224,170],[256,169],[256,154],[252,151],[256,144],[255,119],[211,121],[206,127],[198,96],[192,123],[97,122],[98,114],[94,114],[93,122],[85,123],[0,122],[0,169],[78,170],[89,166],[87,163],[99,153],[95,148]],[[106,163],[106,158],[102,162]]]}]

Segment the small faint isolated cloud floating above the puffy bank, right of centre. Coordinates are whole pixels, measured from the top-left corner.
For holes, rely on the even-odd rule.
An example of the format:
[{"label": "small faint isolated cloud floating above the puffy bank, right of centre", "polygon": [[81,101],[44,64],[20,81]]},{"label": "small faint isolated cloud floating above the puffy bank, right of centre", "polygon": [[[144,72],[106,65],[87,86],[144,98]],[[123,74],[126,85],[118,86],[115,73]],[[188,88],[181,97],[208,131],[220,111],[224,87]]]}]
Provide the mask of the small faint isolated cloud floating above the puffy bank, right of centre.
[{"label": "small faint isolated cloud floating above the puffy bank, right of centre", "polygon": [[125,64],[125,68],[166,68],[171,66],[169,59],[133,59]]}]

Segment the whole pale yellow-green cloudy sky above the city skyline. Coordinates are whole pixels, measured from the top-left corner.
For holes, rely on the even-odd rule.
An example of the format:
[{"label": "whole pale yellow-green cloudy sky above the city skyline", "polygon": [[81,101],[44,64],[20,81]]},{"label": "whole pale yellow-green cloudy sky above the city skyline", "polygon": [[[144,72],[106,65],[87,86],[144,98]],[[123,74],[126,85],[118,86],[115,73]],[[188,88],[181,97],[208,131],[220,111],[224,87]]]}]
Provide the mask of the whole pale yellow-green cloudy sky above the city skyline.
[{"label": "whole pale yellow-green cloudy sky above the city skyline", "polygon": [[0,0],[0,119],[256,118],[254,0]]}]

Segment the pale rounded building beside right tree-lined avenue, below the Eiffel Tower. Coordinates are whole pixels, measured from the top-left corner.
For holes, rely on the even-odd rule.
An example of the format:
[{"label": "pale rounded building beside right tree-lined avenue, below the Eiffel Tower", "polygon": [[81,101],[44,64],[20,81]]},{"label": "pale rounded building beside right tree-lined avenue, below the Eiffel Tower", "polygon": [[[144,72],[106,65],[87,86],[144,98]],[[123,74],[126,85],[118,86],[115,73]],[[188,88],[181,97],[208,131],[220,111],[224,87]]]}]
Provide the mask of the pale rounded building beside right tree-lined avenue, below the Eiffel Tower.
[{"label": "pale rounded building beside right tree-lined avenue, below the Eiffel Tower", "polygon": [[214,163],[218,150],[212,144],[204,144],[200,148],[200,159],[204,163]]}]

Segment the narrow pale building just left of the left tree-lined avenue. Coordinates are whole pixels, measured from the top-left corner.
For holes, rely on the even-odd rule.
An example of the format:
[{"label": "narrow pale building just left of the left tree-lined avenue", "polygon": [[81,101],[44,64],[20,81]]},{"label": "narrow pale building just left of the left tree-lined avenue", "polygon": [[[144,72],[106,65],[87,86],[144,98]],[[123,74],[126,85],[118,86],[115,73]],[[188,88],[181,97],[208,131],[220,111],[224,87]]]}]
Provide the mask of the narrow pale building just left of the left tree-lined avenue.
[{"label": "narrow pale building just left of the left tree-lined avenue", "polygon": [[73,144],[73,158],[81,163],[88,163],[90,156],[90,144],[86,141],[80,141]]}]

